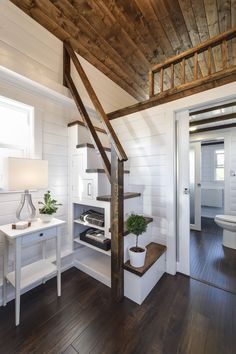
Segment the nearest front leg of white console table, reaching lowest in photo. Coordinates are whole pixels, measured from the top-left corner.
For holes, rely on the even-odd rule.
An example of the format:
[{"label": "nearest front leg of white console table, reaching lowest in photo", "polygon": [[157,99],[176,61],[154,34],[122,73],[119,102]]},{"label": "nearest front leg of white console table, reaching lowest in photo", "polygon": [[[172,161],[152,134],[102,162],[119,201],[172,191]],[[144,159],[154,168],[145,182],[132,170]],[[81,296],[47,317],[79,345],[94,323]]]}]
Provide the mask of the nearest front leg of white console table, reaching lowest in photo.
[{"label": "nearest front leg of white console table, reaching lowest in photo", "polygon": [[20,323],[21,238],[15,240],[15,323]]}]

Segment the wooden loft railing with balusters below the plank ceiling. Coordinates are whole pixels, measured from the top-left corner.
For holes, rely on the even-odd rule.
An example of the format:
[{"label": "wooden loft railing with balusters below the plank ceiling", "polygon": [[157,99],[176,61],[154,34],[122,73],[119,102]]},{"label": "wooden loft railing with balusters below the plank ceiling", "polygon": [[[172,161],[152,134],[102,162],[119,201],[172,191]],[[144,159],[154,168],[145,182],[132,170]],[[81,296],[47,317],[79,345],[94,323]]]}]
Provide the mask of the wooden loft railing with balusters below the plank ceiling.
[{"label": "wooden loft railing with balusters below the plank ceiling", "polygon": [[[176,55],[170,59],[167,59],[164,63],[154,65],[149,72],[149,96],[150,98],[163,94],[171,94],[176,90],[181,90],[183,88],[187,89],[196,84],[204,84],[207,79],[215,77],[216,79],[220,76],[224,76],[227,72],[230,74],[231,69],[235,70],[234,65],[228,66],[227,62],[229,59],[229,46],[228,42],[236,37],[236,28],[215,36],[198,46],[188,49],[185,52]],[[214,57],[218,55],[214,53],[214,48],[220,47],[221,52],[221,69],[213,70],[214,68]],[[234,47],[232,50],[235,50]],[[201,63],[199,61],[199,55],[201,54]],[[236,55],[236,54],[234,54]],[[203,59],[203,60],[202,60]],[[200,65],[201,64],[201,65]],[[205,65],[205,68],[203,67]],[[178,66],[178,68],[177,68]],[[202,75],[199,77],[202,70]],[[178,72],[177,72],[178,69]],[[187,80],[186,70],[190,73],[191,79]],[[191,70],[193,73],[191,75]],[[215,72],[213,72],[215,71]],[[204,72],[206,75],[204,75]],[[179,75],[180,74],[180,75]],[[180,77],[178,77],[178,75]],[[156,77],[159,76],[159,91],[155,90]],[[169,85],[167,89],[164,89],[164,76],[168,77]],[[176,82],[178,81],[178,82]]]}]

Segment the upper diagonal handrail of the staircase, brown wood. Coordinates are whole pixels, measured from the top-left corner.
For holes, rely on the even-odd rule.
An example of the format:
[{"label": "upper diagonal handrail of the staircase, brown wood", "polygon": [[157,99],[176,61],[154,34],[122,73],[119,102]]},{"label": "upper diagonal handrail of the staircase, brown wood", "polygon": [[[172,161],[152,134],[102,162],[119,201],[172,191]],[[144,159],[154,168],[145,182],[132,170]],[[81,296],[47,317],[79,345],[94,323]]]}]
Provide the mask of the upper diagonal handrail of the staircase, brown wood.
[{"label": "upper diagonal handrail of the staircase, brown wood", "polygon": [[84,72],[84,69],[82,68],[82,65],[80,64],[79,62],[79,59],[77,58],[73,48],[71,47],[71,45],[69,43],[64,43],[64,48],[66,49],[67,53],[69,54],[71,60],[73,61],[74,63],[74,66],[89,94],[89,97],[91,99],[91,101],[93,102],[94,104],[94,107],[98,113],[98,115],[100,116],[101,118],[101,121],[104,123],[104,129],[106,130],[107,132],[107,135],[108,135],[108,138],[110,139],[110,142],[111,144],[114,146],[114,149],[116,151],[116,154],[119,158],[120,161],[127,161],[128,160],[128,157],[92,87],[92,85],[90,84],[88,78],[87,78],[87,75],[85,74]]}]

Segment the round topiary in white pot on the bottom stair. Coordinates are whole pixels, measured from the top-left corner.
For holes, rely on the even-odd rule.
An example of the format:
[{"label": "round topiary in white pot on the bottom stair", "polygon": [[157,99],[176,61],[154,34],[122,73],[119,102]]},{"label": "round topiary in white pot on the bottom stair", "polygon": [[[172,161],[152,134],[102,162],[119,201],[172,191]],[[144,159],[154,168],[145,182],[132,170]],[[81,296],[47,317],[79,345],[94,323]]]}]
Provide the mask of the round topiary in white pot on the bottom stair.
[{"label": "round topiary in white pot on the bottom stair", "polygon": [[126,221],[126,225],[128,232],[136,235],[136,245],[129,248],[130,264],[135,268],[143,267],[147,249],[138,246],[138,237],[147,229],[146,220],[142,215],[131,214]]}]

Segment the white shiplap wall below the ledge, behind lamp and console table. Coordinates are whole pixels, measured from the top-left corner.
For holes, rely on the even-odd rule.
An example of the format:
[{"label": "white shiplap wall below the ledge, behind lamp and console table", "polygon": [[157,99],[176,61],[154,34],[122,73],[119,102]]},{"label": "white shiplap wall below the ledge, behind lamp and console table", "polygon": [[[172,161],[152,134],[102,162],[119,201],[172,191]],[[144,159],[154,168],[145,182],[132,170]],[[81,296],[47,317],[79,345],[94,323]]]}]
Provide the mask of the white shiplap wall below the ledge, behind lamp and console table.
[{"label": "white shiplap wall below the ledge, behind lamp and console table", "polygon": [[[30,90],[19,89],[7,81],[0,81],[0,95],[17,100],[34,107],[35,120],[37,125],[37,157],[48,160],[49,163],[49,185],[48,189],[52,192],[55,199],[63,205],[58,209],[56,216],[68,221],[68,141],[67,124],[75,115],[75,110],[71,105],[65,106],[58,101],[39,94],[34,94]],[[41,150],[41,156],[40,156]],[[44,191],[33,192],[33,201],[42,199]],[[19,193],[0,193],[0,224],[11,223],[15,220],[15,211],[19,204]],[[71,241],[68,237],[68,225],[62,229],[62,248],[63,251],[71,249]],[[53,241],[48,242],[48,256],[53,255],[55,246]],[[2,237],[0,238],[0,273],[2,277]],[[23,263],[29,263],[33,259],[41,256],[40,246],[27,248],[23,252]],[[12,256],[11,256],[12,259]],[[13,266],[12,262],[9,264]],[[0,277],[0,284],[1,284]]]}]

